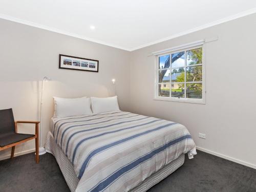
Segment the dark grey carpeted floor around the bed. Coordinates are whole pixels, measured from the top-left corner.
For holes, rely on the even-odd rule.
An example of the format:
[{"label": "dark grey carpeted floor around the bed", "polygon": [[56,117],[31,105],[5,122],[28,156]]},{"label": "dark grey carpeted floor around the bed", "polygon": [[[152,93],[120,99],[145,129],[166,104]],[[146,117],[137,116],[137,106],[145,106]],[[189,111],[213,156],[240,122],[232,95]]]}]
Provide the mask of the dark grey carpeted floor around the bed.
[{"label": "dark grey carpeted floor around the bed", "polygon": [[[0,161],[0,191],[69,191],[51,154],[34,154]],[[179,191],[256,191],[256,169],[198,151],[175,173],[152,187],[149,192]]]}]

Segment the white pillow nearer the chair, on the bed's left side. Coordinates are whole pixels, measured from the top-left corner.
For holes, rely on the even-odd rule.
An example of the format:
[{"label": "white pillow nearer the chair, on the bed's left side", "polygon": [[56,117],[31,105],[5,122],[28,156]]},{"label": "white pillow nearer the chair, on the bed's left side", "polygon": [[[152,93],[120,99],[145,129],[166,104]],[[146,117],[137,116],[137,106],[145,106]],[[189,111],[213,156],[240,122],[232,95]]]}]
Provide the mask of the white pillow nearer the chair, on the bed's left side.
[{"label": "white pillow nearer the chair, on the bed's left side", "polygon": [[53,98],[54,117],[62,118],[80,115],[92,115],[90,98]]}]

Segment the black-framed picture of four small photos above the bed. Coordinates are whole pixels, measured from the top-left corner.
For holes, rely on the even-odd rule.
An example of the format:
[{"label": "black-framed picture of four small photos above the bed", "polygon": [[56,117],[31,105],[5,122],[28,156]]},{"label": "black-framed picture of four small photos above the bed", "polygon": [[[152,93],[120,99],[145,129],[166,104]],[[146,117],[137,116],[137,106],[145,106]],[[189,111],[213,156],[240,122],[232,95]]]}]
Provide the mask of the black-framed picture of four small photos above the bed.
[{"label": "black-framed picture of four small photos above the bed", "polygon": [[69,55],[59,55],[59,69],[71,69],[80,71],[99,71],[99,61]]}]

